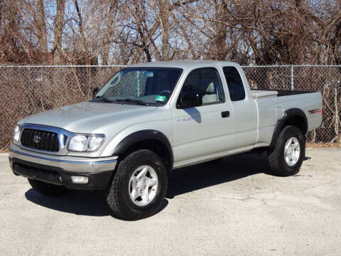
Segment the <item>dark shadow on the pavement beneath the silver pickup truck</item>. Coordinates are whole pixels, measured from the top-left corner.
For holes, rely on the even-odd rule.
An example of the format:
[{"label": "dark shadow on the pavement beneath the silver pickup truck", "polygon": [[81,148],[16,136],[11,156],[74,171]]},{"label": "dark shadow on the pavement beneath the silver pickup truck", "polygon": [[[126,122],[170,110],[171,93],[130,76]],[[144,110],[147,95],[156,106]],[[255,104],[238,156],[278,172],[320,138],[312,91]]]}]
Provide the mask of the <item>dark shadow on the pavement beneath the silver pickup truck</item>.
[{"label": "dark shadow on the pavement beneath the silver pickup truck", "polygon": [[[269,174],[269,166],[264,155],[256,154],[229,156],[217,163],[197,164],[173,170],[168,178],[166,199],[158,211],[167,207],[167,198],[171,199],[184,193],[260,173]],[[25,196],[28,201],[39,206],[65,213],[90,216],[111,215],[103,191],[71,191],[64,196],[51,198],[40,195],[31,188],[26,191]]]}]

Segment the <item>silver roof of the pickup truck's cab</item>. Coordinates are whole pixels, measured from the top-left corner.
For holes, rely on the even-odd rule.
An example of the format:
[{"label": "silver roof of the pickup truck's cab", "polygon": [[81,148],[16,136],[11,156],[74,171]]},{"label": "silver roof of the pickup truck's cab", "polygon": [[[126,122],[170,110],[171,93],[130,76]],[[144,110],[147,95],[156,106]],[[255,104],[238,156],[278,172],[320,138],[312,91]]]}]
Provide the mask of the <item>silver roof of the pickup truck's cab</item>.
[{"label": "silver roof of the pickup truck's cab", "polygon": [[168,61],[156,61],[148,63],[138,63],[129,65],[129,68],[189,68],[190,66],[202,66],[207,67],[207,65],[230,65],[237,66],[237,63],[221,60],[168,60]]}]

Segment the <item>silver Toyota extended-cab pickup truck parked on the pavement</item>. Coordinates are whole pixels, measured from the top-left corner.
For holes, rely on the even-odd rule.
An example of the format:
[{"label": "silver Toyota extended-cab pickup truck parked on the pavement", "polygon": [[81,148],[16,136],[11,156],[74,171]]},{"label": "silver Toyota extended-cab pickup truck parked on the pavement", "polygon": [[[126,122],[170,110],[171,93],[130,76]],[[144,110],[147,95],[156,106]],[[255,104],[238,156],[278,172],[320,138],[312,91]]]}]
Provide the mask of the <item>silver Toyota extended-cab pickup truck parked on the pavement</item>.
[{"label": "silver Toyota extended-cab pickup truck parked on the pavement", "polygon": [[237,63],[141,63],[90,101],[21,119],[9,161],[39,193],[103,189],[114,215],[137,220],[161,207],[172,169],[266,151],[273,174],[297,174],[322,117],[320,92],[250,90]]}]

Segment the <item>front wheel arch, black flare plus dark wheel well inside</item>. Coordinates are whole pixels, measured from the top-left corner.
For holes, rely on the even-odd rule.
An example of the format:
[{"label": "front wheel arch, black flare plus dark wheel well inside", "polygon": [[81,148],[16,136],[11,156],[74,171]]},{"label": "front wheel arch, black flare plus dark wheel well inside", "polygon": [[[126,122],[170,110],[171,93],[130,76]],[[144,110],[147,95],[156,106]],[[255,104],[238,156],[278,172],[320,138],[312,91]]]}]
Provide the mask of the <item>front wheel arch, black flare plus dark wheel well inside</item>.
[{"label": "front wheel arch, black flare plus dark wheel well inside", "polygon": [[173,169],[173,149],[168,138],[162,132],[146,129],[133,132],[121,140],[114,149],[114,155],[124,157],[132,151],[149,149],[163,159],[168,171]]}]

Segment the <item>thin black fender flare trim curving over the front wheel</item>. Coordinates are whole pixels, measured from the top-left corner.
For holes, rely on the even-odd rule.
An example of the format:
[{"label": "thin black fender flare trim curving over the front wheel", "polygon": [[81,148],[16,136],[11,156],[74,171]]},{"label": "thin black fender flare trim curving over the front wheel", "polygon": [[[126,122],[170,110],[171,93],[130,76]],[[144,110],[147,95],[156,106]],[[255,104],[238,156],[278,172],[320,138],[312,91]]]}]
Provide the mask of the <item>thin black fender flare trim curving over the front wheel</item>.
[{"label": "thin black fender flare trim curving over the front wheel", "polygon": [[166,146],[166,149],[168,151],[167,153],[171,161],[171,169],[173,169],[174,156],[171,143],[169,142],[165,134],[153,129],[145,129],[129,134],[127,137],[122,139],[119,144],[117,144],[116,148],[114,149],[113,155],[117,156],[119,154],[123,154],[126,149],[129,149],[130,146],[136,144],[137,142],[142,142],[146,139],[155,139]]}]

